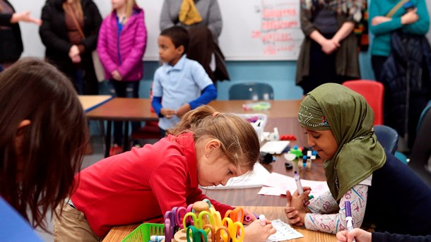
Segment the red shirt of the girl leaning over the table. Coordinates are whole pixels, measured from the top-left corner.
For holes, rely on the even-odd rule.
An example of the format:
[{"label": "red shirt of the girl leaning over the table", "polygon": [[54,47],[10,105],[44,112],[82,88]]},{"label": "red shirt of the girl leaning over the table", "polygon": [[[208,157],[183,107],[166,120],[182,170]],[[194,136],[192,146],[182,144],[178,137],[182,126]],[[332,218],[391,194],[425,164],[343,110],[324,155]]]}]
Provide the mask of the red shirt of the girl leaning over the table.
[{"label": "red shirt of the girl leaning over the table", "polygon": [[[172,207],[187,207],[207,198],[198,188],[191,133],[169,135],[154,145],[102,159],[76,179],[73,205],[101,237],[112,226],[160,217]],[[232,209],[215,200],[211,203],[222,216]]]}]

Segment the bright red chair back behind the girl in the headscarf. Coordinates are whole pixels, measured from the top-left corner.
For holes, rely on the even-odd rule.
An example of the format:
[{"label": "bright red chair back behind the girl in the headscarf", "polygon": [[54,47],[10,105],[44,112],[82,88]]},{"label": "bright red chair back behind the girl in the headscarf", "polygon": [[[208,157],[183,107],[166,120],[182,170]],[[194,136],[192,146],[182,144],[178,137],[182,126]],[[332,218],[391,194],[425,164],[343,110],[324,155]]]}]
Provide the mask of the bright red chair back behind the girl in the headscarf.
[{"label": "bright red chair back behind the girl in the headscarf", "polygon": [[348,80],[343,83],[343,86],[365,97],[374,111],[374,125],[383,124],[384,86],[382,83],[375,80]]}]

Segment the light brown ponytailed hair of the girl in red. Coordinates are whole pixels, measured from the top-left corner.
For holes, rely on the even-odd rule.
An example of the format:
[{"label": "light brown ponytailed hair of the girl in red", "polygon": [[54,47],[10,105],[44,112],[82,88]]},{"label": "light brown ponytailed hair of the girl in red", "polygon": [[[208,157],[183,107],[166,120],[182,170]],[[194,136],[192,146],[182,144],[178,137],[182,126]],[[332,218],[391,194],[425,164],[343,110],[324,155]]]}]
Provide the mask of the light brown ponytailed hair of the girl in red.
[{"label": "light brown ponytailed hair of the girl in red", "polygon": [[181,121],[167,130],[179,135],[193,132],[195,142],[202,138],[220,140],[223,153],[232,164],[250,171],[259,159],[259,138],[252,125],[235,114],[218,113],[213,107],[203,105],[185,114]]}]

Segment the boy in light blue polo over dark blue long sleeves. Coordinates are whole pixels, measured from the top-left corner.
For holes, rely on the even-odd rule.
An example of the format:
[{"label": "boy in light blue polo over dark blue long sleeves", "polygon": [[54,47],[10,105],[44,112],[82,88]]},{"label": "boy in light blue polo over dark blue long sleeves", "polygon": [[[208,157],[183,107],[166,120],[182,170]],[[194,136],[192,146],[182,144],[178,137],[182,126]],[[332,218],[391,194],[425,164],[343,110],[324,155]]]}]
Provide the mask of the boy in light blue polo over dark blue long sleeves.
[{"label": "boy in light blue polo over dark blue long sleeves", "polygon": [[187,59],[184,54],[188,45],[187,30],[179,26],[163,30],[158,37],[163,66],[154,73],[151,104],[160,117],[158,124],[162,138],[166,129],[174,127],[187,111],[217,97],[213,81],[201,64]]}]

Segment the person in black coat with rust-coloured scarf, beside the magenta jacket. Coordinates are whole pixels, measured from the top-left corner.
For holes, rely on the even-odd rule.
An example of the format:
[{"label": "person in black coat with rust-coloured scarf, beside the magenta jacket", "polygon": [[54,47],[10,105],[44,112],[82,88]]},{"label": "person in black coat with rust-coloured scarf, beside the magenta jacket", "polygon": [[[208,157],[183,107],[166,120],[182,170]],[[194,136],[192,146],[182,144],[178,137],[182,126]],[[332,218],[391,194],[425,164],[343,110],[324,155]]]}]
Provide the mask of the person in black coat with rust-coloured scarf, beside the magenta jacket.
[{"label": "person in black coat with rust-coloured scarf, beside the magenta jacket", "polygon": [[97,95],[91,52],[96,49],[102,17],[92,0],[47,0],[39,34],[47,61],[71,80],[80,95]]}]

